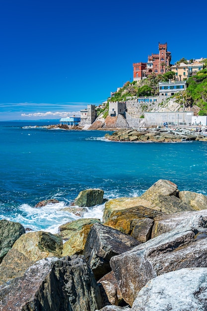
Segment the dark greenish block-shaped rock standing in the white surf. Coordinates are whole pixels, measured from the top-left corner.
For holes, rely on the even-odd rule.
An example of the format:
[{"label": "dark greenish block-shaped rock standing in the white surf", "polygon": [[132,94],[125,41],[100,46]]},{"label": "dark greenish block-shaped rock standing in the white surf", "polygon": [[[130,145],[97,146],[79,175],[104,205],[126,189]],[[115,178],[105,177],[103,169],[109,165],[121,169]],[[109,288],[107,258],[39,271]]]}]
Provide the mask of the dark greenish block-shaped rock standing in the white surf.
[{"label": "dark greenish block-shaped rock standing in the white surf", "polygon": [[80,191],[74,201],[74,205],[79,207],[90,207],[103,203],[104,191],[101,189],[87,189]]}]

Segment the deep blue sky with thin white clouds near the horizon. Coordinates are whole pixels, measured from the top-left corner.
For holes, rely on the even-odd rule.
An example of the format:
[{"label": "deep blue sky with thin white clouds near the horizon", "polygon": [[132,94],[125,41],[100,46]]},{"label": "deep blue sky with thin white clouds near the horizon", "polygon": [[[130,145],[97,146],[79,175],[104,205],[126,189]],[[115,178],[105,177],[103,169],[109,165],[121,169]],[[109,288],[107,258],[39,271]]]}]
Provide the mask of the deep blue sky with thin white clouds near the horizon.
[{"label": "deep blue sky with thin white clouds near the horizon", "polygon": [[168,44],[207,57],[207,1],[0,1],[0,121],[58,119],[133,80]]}]

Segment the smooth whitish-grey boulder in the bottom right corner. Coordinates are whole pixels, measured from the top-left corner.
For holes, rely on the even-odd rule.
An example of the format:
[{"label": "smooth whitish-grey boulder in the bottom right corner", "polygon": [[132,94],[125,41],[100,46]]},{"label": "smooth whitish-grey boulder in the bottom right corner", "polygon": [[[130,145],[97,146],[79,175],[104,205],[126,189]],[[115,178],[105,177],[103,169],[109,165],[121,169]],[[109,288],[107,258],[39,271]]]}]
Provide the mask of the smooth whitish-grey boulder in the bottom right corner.
[{"label": "smooth whitish-grey boulder in the bottom right corner", "polygon": [[140,290],[131,311],[204,311],[207,268],[186,268],[160,275]]}]

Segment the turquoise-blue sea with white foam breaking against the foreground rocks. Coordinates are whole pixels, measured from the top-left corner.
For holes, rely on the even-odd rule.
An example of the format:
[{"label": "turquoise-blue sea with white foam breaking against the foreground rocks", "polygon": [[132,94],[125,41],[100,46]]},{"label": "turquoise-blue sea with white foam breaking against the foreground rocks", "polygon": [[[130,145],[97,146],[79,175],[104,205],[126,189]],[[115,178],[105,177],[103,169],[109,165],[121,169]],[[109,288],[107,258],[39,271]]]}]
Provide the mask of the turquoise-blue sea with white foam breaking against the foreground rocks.
[{"label": "turquoise-blue sea with white foam breaking against the foreground rocks", "polygon": [[[140,196],[159,179],[207,195],[207,142],[110,142],[107,131],[50,130],[48,122],[0,122],[0,220],[57,233],[79,219],[64,210],[84,189]],[[59,203],[34,206],[46,199]],[[84,218],[102,220],[104,204]]]}]

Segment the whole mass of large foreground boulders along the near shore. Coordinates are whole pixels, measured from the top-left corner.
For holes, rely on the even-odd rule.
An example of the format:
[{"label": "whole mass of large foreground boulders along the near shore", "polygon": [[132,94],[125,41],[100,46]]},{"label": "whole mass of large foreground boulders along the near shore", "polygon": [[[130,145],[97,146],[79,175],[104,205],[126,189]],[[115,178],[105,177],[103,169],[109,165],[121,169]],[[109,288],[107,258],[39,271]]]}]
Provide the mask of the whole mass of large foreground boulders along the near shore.
[{"label": "whole mass of large foreground boulders along the near shore", "polygon": [[[69,208],[103,195],[81,191]],[[1,220],[0,310],[206,310],[206,238],[207,196],[163,179],[107,201],[103,221],[80,218],[57,234]]]}]

